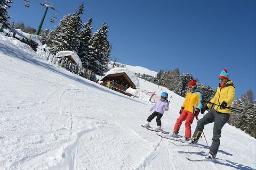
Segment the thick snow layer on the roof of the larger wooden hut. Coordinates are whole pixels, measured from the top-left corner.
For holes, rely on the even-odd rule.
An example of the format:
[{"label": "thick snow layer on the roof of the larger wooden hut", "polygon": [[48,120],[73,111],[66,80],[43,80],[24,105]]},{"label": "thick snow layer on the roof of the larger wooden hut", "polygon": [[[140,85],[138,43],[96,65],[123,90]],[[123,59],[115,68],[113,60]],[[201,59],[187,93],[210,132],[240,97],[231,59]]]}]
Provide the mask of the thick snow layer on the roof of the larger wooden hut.
[{"label": "thick snow layer on the roof of the larger wooden hut", "polygon": [[127,76],[132,80],[132,82],[134,83],[134,85],[136,87],[140,86],[140,82],[139,82],[139,79],[137,78],[137,76],[132,71],[130,71],[129,69],[126,69],[126,68],[117,67],[117,68],[111,69],[105,74],[105,76],[110,75],[110,74],[123,73],[123,72],[125,72],[127,74]]}]

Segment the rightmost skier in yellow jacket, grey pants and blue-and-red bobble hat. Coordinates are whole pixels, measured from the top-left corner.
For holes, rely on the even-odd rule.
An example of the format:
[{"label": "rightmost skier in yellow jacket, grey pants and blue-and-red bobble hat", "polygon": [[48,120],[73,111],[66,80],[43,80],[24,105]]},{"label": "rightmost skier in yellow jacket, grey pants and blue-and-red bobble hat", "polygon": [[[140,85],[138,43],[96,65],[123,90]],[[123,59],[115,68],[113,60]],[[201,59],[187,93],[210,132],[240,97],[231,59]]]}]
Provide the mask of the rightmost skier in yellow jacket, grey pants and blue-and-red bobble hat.
[{"label": "rightmost skier in yellow jacket, grey pants and blue-and-red bobble hat", "polygon": [[235,88],[233,82],[229,80],[227,69],[221,71],[219,81],[220,83],[214,97],[209,104],[201,109],[202,114],[209,108],[212,108],[211,111],[198,121],[193,138],[188,141],[188,143],[197,143],[203,132],[204,125],[214,122],[212,145],[209,153],[205,156],[207,159],[215,158],[217,155],[220,146],[221,129],[228,122],[231,113],[227,107],[230,107],[235,99]]}]

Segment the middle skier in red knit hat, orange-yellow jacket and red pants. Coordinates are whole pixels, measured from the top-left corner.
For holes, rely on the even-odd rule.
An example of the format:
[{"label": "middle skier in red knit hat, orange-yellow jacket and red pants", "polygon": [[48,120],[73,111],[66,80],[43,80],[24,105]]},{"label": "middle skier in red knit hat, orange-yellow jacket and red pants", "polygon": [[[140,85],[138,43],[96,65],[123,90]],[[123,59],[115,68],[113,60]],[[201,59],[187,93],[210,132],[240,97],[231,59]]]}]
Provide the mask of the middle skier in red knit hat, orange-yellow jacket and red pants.
[{"label": "middle skier in red knit hat, orange-yellow jacket and red pants", "polygon": [[174,125],[174,131],[170,135],[177,135],[183,121],[185,122],[185,137],[182,140],[189,140],[191,138],[191,124],[195,116],[197,116],[202,107],[202,94],[196,87],[196,80],[191,80],[188,83],[188,92],[180,109],[180,116]]}]

